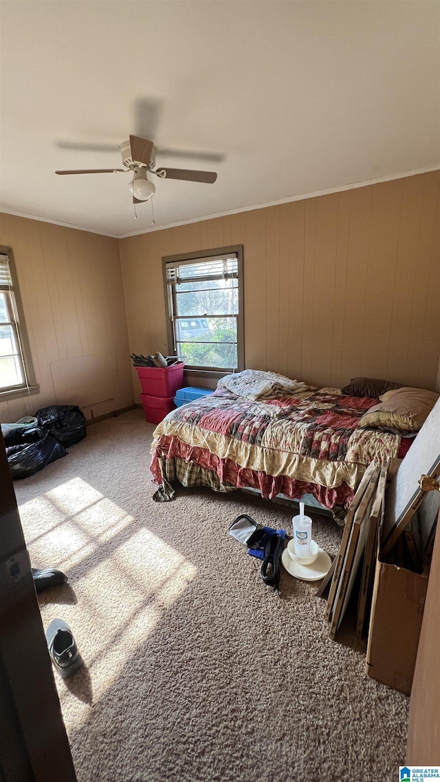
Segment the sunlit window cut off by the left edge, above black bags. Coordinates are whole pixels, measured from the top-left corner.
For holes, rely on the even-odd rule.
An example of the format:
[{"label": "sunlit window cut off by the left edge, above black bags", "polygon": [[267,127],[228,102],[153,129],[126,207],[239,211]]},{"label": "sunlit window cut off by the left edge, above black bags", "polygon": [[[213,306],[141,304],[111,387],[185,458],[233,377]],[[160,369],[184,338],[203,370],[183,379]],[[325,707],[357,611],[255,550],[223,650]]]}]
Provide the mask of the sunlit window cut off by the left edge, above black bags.
[{"label": "sunlit window cut off by the left edge, above black bags", "polygon": [[34,371],[27,343],[12,252],[0,252],[0,396],[34,388]]}]

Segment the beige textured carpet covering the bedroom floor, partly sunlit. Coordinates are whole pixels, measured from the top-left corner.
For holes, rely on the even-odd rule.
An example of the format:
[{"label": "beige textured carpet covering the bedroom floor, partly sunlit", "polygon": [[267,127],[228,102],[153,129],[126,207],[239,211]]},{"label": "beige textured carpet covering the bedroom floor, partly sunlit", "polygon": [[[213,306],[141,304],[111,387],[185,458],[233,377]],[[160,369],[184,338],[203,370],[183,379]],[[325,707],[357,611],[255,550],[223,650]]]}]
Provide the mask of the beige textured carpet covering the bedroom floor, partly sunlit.
[{"label": "beige textured carpet covering the bedroom floor, partly sunlit", "polygon": [[[41,614],[70,622],[87,666],[56,676],[79,782],[397,779],[408,699],[365,675],[351,626],[328,639],[316,585],[283,572],[275,597],[227,534],[240,512],[288,527],[290,509],[154,503],[152,432],[140,411],[111,418],[15,483],[32,565],[70,578]],[[340,535],[314,526],[332,555]]]}]

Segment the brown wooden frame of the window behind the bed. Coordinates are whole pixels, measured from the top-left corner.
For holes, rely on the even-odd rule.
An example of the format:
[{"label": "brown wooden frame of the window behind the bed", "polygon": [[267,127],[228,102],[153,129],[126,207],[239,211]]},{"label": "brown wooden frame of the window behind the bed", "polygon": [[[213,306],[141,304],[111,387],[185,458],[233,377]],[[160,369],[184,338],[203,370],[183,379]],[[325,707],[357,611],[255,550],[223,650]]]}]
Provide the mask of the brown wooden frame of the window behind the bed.
[{"label": "brown wooden frame of the window behind the bed", "polygon": [[[236,245],[233,247],[220,247],[216,249],[200,250],[195,253],[183,253],[181,255],[170,255],[162,258],[163,272],[164,272],[164,294],[165,294],[165,310],[167,316],[167,337],[168,337],[168,355],[177,355],[176,350],[176,335],[175,335],[175,292],[172,282],[169,278],[168,270],[173,266],[181,264],[197,264],[197,262],[203,263],[207,260],[222,260],[226,257],[236,256],[238,267],[238,314],[236,316],[236,335],[237,335],[237,367],[236,368],[224,368],[214,367],[207,365],[186,364],[186,369],[189,371],[196,371],[204,373],[205,376],[211,375],[226,375],[234,371],[242,371],[244,369],[244,314],[243,314],[243,245]],[[183,316],[182,316],[183,317]],[[188,315],[187,319],[191,317],[204,317],[200,314]],[[220,317],[220,316],[219,316]],[[229,317],[229,316],[225,316]],[[185,319],[185,318],[184,318]]]}]

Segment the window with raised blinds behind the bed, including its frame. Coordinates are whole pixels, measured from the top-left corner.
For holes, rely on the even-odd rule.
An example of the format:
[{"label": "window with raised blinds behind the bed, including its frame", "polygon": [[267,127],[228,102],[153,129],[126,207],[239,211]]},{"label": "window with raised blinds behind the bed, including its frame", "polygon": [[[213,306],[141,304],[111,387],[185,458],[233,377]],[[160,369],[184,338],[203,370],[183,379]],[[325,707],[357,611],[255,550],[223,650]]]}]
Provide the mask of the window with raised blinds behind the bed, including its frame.
[{"label": "window with raised blinds behind the bed, including its frame", "polygon": [[243,248],[163,260],[169,354],[193,369],[243,369]]}]

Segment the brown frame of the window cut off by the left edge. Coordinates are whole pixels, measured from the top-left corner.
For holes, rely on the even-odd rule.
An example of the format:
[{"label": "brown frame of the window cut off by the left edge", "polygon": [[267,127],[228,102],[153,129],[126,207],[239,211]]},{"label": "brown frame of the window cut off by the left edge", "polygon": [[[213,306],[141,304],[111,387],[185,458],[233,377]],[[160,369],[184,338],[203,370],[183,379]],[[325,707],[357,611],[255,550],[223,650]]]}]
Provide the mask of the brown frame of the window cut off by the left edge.
[{"label": "brown frame of the window cut off by the left edge", "polygon": [[[17,357],[23,375],[23,382],[15,386],[0,386],[0,401],[7,400],[28,393],[39,393],[39,386],[35,381],[34,365],[32,363],[31,348],[27,337],[27,328],[24,321],[23,305],[21,302],[20,288],[16,276],[16,267],[13,259],[13,251],[10,247],[0,246],[0,256],[5,261],[6,275],[0,280],[0,290],[8,293],[7,307],[9,310],[10,325],[18,346]],[[9,274],[8,274],[9,272]]]}]

